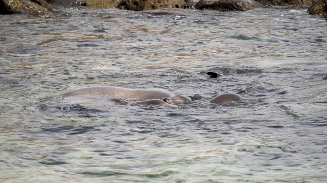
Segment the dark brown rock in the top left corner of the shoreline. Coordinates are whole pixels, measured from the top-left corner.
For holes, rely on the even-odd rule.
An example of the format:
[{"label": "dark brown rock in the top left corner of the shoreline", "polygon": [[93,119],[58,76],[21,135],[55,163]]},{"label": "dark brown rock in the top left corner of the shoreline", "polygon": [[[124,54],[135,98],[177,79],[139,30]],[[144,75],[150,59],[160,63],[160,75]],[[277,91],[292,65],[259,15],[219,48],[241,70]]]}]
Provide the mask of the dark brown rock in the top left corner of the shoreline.
[{"label": "dark brown rock in the top left corner of the shoreline", "polygon": [[38,15],[50,13],[51,8],[43,0],[0,0],[0,14],[25,13]]}]

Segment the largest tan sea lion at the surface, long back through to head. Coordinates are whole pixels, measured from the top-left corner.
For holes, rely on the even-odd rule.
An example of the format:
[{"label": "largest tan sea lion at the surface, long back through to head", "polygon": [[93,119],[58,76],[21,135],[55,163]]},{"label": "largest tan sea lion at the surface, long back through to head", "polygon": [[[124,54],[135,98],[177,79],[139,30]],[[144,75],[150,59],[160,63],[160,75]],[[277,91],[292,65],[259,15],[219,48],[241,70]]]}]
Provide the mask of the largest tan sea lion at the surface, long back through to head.
[{"label": "largest tan sea lion at the surface, long back through to head", "polygon": [[137,105],[162,105],[178,102],[191,101],[189,97],[175,95],[154,89],[130,89],[115,86],[100,86],[74,89],[60,95],[62,98],[71,96],[95,95],[104,96],[108,99],[127,99],[127,100],[144,100],[134,102]]}]

